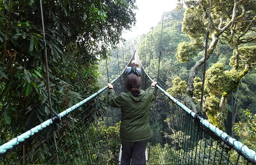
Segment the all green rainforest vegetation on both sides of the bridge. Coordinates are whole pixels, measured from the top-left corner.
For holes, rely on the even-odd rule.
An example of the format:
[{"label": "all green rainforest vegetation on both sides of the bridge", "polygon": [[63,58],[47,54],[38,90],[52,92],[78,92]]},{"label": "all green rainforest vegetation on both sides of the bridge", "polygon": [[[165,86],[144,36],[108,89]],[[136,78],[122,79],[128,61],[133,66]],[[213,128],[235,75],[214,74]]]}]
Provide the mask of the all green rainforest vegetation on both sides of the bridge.
[{"label": "all green rainforest vegetation on both sides of the bridge", "polygon": [[[256,150],[256,1],[212,1],[202,110],[209,1],[177,3],[176,9],[163,13],[163,29],[159,18],[147,33],[133,38],[145,71],[157,79],[161,50],[158,84],[194,112],[201,112],[210,123]],[[43,1],[54,111],[63,112],[106,86],[107,74],[112,81],[124,70],[132,57],[132,43],[122,38],[122,31],[135,24],[135,9],[135,0]],[[39,0],[0,0],[0,145],[51,117],[42,31]],[[167,119],[165,122],[168,124]],[[98,139],[101,135],[107,137],[103,139],[108,142],[100,141],[100,145],[112,147],[107,152],[112,155],[109,162],[115,163],[120,123],[113,127],[100,124],[100,129],[95,125],[89,128],[100,132]],[[158,124],[152,127],[157,130]],[[92,132],[86,131],[88,135]],[[156,143],[151,148],[158,159],[165,159],[174,150],[167,143]],[[150,162],[157,164],[155,157]]]}]

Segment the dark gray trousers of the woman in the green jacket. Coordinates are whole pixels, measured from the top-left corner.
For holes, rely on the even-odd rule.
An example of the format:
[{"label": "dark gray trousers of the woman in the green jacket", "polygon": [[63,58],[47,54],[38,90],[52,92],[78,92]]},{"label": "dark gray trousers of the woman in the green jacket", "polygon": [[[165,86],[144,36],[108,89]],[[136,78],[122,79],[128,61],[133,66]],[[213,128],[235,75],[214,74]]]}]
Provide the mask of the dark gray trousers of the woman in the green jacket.
[{"label": "dark gray trousers of the woman in the green jacket", "polygon": [[[145,150],[148,139],[143,141],[123,141],[121,165],[143,165],[145,164]],[[132,163],[131,163],[132,159]]]}]

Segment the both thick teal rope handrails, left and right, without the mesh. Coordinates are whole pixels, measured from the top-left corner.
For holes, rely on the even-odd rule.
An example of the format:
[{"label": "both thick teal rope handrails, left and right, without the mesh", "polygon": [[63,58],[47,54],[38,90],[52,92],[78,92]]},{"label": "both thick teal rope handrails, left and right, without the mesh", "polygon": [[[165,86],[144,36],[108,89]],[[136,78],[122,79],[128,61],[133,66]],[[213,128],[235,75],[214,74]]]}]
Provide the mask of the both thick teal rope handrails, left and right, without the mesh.
[{"label": "both thick teal rope handrails, left and right, without the mesh", "polygon": [[[141,67],[144,70],[143,66],[141,66]],[[124,73],[124,71],[125,70],[123,70],[121,75]],[[111,83],[114,83],[117,79],[119,79],[119,77],[121,75],[119,75]],[[147,75],[148,79],[150,79],[150,81],[153,82],[153,80],[151,79],[151,77],[148,76],[147,73],[146,73],[146,75]],[[195,117],[196,117],[196,113],[195,112],[193,112],[192,110],[187,108],[185,105],[180,103],[177,99],[175,99],[173,96],[168,94],[165,90],[163,90],[159,85],[156,85],[156,86],[157,86],[157,88],[159,90],[161,90],[161,92],[163,92],[167,97],[169,97],[172,101],[174,101],[174,103],[176,103],[178,106],[180,106],[180,108],[182,108],[187,114],[191,115],[195,119]],[[83,105],[87,101],[91,100],[93,97],[95,97],[96,95],[100,94],[102,91],[106,90],[107,88],[108,88],[108,86],[105,86],[104,88],[102,88],[101,90],[99,90],[95,94],[87,97],[86,99],[84,99],[80,103],[77,103],[76,105],[74,105],[74,106],[68,108],[67,110],[61,112],[59,114],[59,117],[63,117],[65,115],[69,114],[74,109],[80,107],[81,105]],[[28,139],[30,136],[32,136],[33,134],[39,132],[43,128],[48,127],[48,125],[50,125],[52,123],[53,123],[53,119],[48,119],[45,122],[41,123],[40,125],[37,125],[36,127],[32,128],[31,130],[28,130],[24,134],[22,134],[20,136],[17,136],[16,138],[12,139],[11,141],[1,145],[0,146],[0,154],[5,153],[6,150],[9,150],[9,149],[13,148],[13,146],[19,144],[20,142],[24,141],[25,139]],[[223,141],[225,141],[225,143],[228,143],[235,150],[240,151],[244,156],[246,156],[249,159],[251,159],[252,161],[256,162],[256,152],[254,150],[249,149],[247,146],[243,145],[241,142],[237,141],[235,138],[232,138],[231,136],[228,136],[228,134],[226,134],[226,132],[223,132],[219,128],[215,127],[214,125],[209,123],[206,119],[200,118],[200,124],[203,125],[204,127],[209,128],[209,130],[211,130],[213,133],[215,133],[216,136],[218,136],[219,138],[223,139]]]}]

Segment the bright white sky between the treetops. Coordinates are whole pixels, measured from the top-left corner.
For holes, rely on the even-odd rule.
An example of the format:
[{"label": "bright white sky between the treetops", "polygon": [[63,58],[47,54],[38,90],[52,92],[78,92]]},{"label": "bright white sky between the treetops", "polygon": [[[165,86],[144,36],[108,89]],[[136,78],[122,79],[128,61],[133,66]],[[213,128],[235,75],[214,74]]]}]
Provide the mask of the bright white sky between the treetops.
[{"label": "bright white sky between the treetops", "polygon": [[138,10],[136,24],[131,31],[124,31],[122,37],[126,40],[147,33],[150,27],[154,27],[161,20],[163,11],[171,11],[176,7],[176,0],[137,0]]}]

